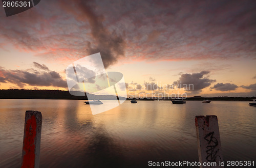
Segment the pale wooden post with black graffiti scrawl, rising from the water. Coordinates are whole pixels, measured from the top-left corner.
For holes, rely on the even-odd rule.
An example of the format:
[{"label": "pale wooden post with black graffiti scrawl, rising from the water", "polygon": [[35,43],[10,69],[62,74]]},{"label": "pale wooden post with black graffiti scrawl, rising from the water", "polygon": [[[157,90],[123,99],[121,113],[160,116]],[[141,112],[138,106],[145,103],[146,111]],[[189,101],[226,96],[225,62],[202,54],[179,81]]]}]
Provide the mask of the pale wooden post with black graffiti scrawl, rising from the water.
[{"label": "pale wooden post with black graffiti scrawl, rising from the water", "polygon": [[196,116],[195,121],[200,167],[224,167],[217,116]]}]

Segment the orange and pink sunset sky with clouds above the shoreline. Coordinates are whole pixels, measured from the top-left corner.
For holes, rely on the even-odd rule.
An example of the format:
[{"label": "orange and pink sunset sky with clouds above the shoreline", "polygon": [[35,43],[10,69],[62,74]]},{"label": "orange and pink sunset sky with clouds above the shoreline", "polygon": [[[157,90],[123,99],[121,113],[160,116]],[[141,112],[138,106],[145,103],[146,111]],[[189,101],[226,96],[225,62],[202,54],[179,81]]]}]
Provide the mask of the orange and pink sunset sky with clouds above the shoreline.
[{"label": "orange and pink sunset sky with clouds above the shoreline", "polygon": [[[68,90],[100,52],[127,96],[254,96],[255,1],[46,1],[0,8],[0,89]],[[185,96],[184,96],[185,97]]]}]

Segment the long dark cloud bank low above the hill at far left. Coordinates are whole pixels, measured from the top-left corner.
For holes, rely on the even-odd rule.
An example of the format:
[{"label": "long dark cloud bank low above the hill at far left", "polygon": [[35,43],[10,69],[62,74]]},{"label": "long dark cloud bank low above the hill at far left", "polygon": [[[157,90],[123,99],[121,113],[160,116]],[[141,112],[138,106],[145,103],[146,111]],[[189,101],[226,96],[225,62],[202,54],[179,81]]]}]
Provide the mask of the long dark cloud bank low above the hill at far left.
[{"label": "long dark cloud bank low above the hill at far left", "polygon": [[[66,80],[63,80],[59,73],[55,71],[36,71],[28,70],[6,70],[0,68],[0,73],[4,77],[0,77],[0,82],[9,82],[24,88],[25,86],[44,86],[44,87],[60,87],[67,88]],[[3,80],[1,80],[3,78]]]}]

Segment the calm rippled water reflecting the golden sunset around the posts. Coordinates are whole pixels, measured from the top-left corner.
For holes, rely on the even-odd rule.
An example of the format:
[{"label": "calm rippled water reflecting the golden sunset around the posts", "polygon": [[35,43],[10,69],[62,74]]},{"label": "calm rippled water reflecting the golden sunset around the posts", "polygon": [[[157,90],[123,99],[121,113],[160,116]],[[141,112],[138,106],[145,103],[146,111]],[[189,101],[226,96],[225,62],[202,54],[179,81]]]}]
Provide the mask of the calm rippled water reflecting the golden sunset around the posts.
[{"label": "calm rippled water reflecting the golden sunset around the posts", "polygon": [[195,116],[217,115],[224,160],[256,161],[248,101],[125,101],[92,116],[82,100],[0,99],[0,167],[20,167],[26,110],[42,113],[40,167],[147,167],[198,161]]}]

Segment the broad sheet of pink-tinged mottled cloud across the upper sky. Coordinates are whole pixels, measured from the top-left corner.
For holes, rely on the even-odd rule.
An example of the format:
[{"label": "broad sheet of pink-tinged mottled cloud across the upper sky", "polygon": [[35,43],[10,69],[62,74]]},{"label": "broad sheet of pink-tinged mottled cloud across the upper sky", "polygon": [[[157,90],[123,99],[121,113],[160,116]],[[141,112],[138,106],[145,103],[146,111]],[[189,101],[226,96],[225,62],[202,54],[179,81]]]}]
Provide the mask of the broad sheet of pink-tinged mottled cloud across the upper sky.
[{"label": "broad sheet of pink-tinged mottled cloud across the upper sky", "polygon": [[[255,1],[49,1],[0,20],[5,43],[73,61],[255,59]],[[125,61],[124,61],[125,62]]]}]

